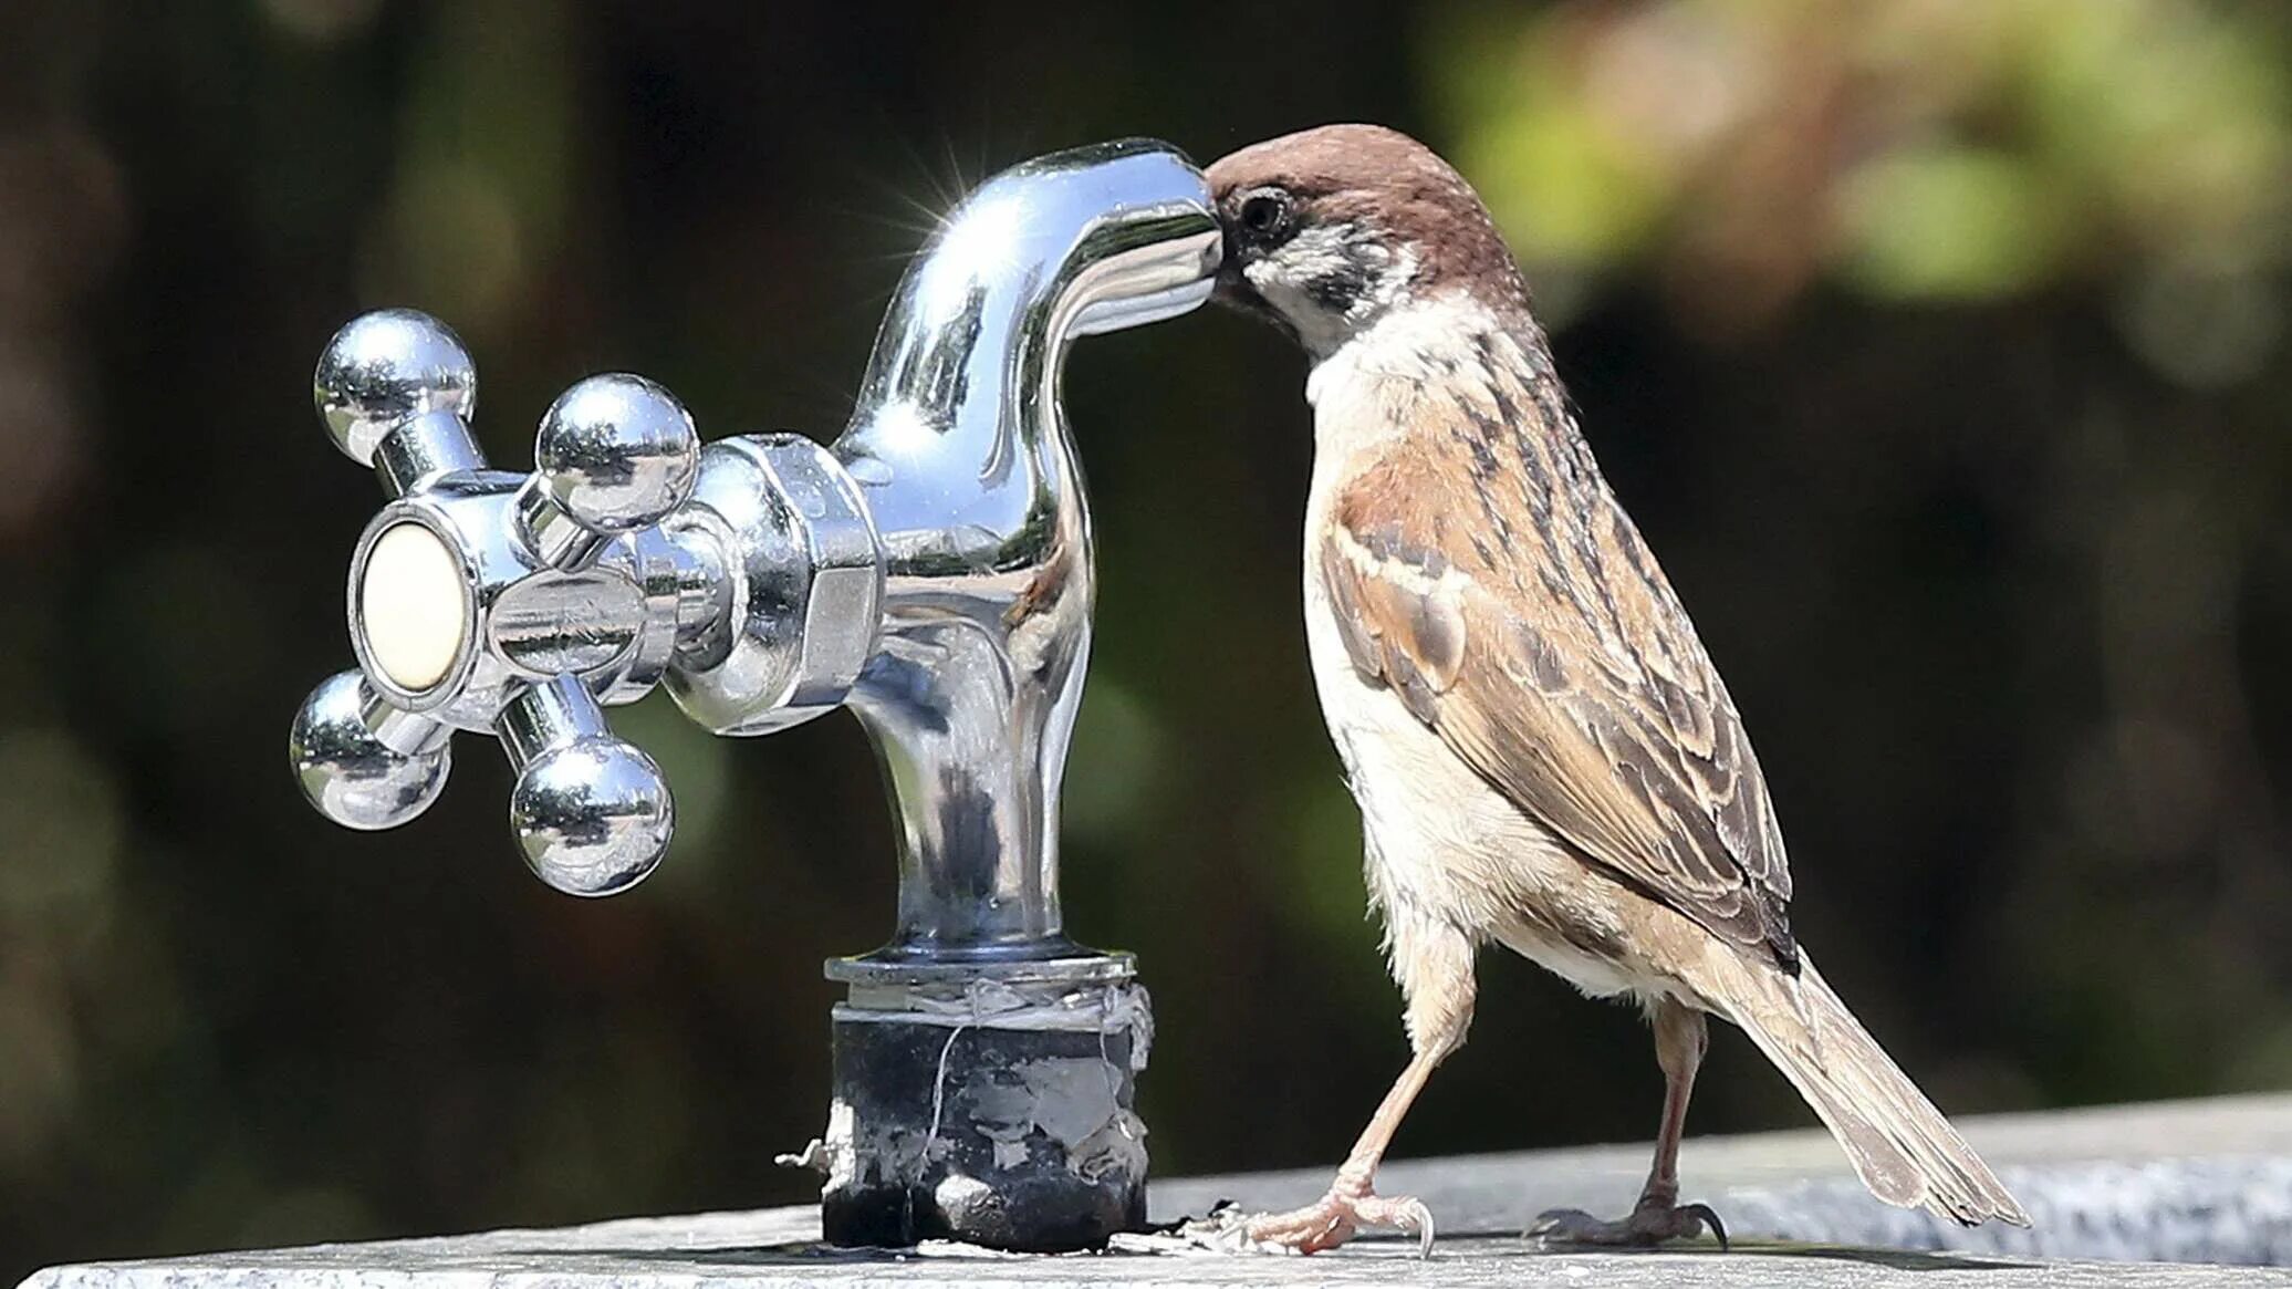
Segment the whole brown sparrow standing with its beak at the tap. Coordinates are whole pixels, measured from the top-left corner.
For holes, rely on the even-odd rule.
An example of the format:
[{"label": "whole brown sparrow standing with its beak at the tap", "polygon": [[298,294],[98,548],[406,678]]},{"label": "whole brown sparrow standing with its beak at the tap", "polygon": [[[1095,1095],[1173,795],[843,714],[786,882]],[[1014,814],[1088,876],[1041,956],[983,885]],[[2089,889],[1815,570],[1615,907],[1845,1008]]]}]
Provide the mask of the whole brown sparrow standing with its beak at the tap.
[{"label": "whole brown sparrow standing with its beak at the tap", "polygon": [[1412,1050],[1327,1195],[1247,1236],[1313,1252],[1396,1227],[1430,1250],[1426,1206],[1373,1183],[1465,1044],[1483,945],[1636,1002],[1664,1071],[1634,1209],[1561,1209],[1526,1234],[1726,1241],[1710,1206],[1680,1204],[1705,1016],[1751,1034],[1879,1200],[2028,1225],[1792,936],[1742,716],[1600,475],[1481,197],[1416,140],[1359,124],[1247,147],[1208,181],[1217,296],[1311,360],[1306,644]]}]

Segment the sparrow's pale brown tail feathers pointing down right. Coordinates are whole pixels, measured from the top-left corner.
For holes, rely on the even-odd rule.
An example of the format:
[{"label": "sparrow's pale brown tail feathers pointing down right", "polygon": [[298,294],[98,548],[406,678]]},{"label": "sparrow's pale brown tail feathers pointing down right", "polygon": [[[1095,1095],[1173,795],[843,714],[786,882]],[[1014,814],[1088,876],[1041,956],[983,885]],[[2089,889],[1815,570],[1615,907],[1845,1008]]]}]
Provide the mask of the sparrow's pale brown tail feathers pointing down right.
[{"label": "sparrow's pale brown tail feathers pointing down right", "polygon": [[1694,984],[1781,1067],[1873,1195],[1969,1227],[2028,1225],[2022,1204],[1886,1057],[1813,961],[1802,961],[1797,977],[1735,954],[1710,954],[1703,968]]}]

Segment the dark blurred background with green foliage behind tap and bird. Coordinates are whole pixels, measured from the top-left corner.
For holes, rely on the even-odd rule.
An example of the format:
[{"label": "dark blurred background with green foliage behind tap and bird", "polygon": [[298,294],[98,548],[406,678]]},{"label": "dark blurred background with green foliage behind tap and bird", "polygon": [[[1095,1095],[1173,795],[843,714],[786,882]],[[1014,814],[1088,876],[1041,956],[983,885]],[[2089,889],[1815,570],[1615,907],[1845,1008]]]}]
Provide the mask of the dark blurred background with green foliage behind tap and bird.
[{"label": "dark blurred background with green foliage behind tap and bird", "polygon": [[[598,369],[827,438],[931,218],[1128,133],[1375,119],[1481,183],[1795,924],[1937,1101],[2292,1085],[2287,53],[2226,0],[7,0],[0,1282],[804,1195],[818,963],[892,915],[857,727],[619,713],[681,835],[601,904],[523,872],[484,743],[410,828],[323,823],[282,743],[378,493],[309,367],[417,305],[500,463]],[[1405,1055],[1300,647],[1300,381],[1219,312],[1068,381],[1066,897],[1160,1002],[1162,1174],[1334,1163]],[[1403,1154],[1653,1131],[1634,1014],[1483,977]],[[1691,1128],[1808,1122],[1719,1037]]]}]

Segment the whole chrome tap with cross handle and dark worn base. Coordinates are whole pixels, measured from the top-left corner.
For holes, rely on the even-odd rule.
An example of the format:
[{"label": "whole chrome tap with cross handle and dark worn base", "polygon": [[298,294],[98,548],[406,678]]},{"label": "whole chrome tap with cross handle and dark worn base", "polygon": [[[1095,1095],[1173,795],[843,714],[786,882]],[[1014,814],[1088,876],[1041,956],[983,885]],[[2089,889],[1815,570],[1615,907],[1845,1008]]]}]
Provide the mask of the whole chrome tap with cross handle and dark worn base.
[{"label": "whole chrome tap with cross handle and dark worn base", "polygon": [[[316,404],[390,500],[351,560],[358,670],[293,722],[303,791],[337,823],[403,823],[440,794],[452,732],[493,734],[527,862],[610,895],[660,862],[674,803],[605,706],[662,683],[717,734],[850,706],[901,814],[901,883],[892,940],[830,963],[850,986],[816,1156],[830,1239],[1075,1248],[1137,1225],[1146,998],[1059,915],[1093,596],[1059,378],[1073,337],[1199,307],[1219,250],[1176,149],[1045,156],[921,250],[834,445],[701,447],[660,385],[594,376],[541,420],[532,475],[484,466],[442,323],[353,321]],[[1105,1069],[1013,1099],[1061,1062]]]}]

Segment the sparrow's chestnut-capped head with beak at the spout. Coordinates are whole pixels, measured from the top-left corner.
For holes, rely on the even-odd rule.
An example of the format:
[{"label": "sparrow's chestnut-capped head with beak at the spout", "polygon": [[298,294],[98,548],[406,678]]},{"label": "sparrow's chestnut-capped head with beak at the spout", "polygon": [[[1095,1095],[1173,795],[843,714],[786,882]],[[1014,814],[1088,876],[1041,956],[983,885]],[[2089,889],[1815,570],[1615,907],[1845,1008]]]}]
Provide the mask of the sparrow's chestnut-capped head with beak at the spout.
[{"label": "sparrow's chestnut-capped head with beak at the spout", "polygon": [[1316,360],[1446,291],[1526,307],[1478,193],[1400,131],[1300,131],[1245,147],[1208,177],[1226,229],[1217,298],[1284,326]]}]

